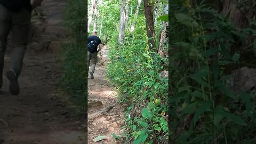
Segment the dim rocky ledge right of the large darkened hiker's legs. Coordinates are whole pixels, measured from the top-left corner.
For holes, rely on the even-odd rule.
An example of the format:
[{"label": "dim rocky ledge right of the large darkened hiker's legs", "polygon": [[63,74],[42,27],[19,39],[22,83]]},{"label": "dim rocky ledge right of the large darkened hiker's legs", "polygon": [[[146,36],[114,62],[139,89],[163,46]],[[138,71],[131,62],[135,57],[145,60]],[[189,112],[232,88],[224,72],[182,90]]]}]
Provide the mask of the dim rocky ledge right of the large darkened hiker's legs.
[{"label": "dim rocky ledge right of the large darkened hiker's legs", "polygon": [[68,37],[68,30],[65,27],[57,26],[61,20],[46,19],[47,11],[38,7],[31,20],[28,49],[39,51],[50,51],[59,53],[61,43]]}]

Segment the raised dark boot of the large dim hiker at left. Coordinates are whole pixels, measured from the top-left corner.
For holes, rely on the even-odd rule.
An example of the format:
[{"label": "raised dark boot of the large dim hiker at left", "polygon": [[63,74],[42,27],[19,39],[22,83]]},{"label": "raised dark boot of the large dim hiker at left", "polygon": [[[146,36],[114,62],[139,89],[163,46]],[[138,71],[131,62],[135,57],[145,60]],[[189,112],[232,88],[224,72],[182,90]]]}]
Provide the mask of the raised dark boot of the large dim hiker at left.
[{"label": "raised dark boot of the large dim hiker at left", "polygon": [[13,69],[10,69],[6,73],[6,77],[10,81],[9,91],[12,93],[12,95],[18,95],[20,93],[20,87],[18,83],[18,77],[15,74],[15,71]]}]

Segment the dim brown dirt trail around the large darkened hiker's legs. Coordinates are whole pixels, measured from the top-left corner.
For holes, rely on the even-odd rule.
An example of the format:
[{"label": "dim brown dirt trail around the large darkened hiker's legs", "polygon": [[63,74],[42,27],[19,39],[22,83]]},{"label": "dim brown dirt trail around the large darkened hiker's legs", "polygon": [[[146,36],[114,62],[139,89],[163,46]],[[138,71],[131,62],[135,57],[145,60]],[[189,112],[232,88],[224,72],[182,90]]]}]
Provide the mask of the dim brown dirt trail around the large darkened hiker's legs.
[{"label": "dim brown dirt trail around the large darkened hiker's legs", "polygon": [[[45,0],[49,25],[61,22],[66,1]],[[62,11],[55,11],[55,10]],[[54,15],[54,16],[53,16]],[[7,47],[4,74],[9,69],[11,47]],[[87,143],[86,122],[76,116],[58,95],[60,65],[53,53],[28,49],[19,77],[21,92],[11,95],[9,81],[3,76],[0,93],[0,143],[2,144],[80,144]],[[6,123],[5,123],[6,122]]]}]

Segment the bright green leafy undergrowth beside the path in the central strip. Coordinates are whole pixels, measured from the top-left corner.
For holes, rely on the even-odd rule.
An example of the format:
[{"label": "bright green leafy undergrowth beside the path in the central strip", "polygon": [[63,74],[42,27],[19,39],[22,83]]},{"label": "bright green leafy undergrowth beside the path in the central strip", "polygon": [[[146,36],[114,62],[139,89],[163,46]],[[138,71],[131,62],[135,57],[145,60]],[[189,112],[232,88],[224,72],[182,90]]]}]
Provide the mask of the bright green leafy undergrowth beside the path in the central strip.
[{"label": "bright green leafy undergrowth beside the path in the central strip", "polygon": [[[143,22],[138,27],[143,26]],[[121,102],[131,103],[126,109],[123,136],[125,143],[167,142],[168,79],[161,77],[168,58],[148,51],[146,31],[139,29],[117,47],[118,35],[108,43],[110,63],[108,77],[118,87]],[[167,46],[166,46],[167,47]],[[114,134],[114,136],[116,136]],[[115,137],[118,138],[118,137]]]}]

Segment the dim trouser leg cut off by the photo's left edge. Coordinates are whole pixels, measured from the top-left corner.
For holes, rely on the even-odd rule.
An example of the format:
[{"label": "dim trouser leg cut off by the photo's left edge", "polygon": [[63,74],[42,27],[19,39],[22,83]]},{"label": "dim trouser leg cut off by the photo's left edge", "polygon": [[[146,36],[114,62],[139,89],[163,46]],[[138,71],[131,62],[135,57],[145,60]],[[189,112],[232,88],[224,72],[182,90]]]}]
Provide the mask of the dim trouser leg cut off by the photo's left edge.
[{"label": "dim trouser leg cut off by the photo's left edge", "polygon": [[10,13],[4,6],[0,4],[0,87],[3,85],[4,53],[10,28]]}]

